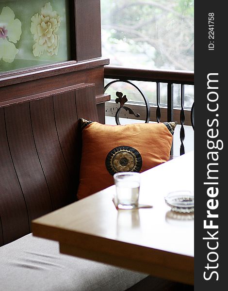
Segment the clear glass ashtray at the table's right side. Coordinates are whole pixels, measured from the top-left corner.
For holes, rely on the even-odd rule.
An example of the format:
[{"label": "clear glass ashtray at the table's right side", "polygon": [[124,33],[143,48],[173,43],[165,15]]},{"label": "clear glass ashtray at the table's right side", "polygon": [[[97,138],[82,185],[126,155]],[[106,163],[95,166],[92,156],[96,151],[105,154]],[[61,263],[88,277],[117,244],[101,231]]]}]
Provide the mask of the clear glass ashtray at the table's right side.
[{"label": "clear glass ashtray at the table's right side", "polygon": [[191,191],[174,191],[164,198],[171,210],[180,213],[194,212],[194,193]]}]

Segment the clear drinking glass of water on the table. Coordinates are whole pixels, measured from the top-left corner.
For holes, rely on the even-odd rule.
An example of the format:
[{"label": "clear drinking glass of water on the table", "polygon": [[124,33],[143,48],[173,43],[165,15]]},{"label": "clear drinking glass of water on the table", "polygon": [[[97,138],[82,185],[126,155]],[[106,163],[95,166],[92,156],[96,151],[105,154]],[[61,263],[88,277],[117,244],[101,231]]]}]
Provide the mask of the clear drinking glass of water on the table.
[{"label": "clear drinking glass of water on the table", "polygon": [[118,208],[137,208],[139,203],[140,174],[135,172],[116,173],[114,174],[114,182]]}]

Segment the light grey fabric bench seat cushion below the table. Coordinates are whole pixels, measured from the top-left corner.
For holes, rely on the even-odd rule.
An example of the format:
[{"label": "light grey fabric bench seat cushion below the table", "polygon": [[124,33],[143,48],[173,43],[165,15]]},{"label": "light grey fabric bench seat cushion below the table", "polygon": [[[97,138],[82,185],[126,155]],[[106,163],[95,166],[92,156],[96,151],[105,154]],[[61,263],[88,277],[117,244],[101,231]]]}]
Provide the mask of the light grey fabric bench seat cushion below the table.
[{"label": "light grey fabric bench seat cushion below the table", "polygon": [[0,247],[0,291],[122,291],[145,277],[62,255],[58,242],[32,234]]}]

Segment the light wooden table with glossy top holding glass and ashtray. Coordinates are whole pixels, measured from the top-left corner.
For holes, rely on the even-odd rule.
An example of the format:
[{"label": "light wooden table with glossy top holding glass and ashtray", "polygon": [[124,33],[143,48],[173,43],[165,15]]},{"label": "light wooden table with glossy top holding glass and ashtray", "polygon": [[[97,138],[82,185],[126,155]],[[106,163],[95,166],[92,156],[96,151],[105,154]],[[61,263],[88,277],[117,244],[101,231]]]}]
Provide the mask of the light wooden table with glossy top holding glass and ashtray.
[{"label": "light wooden table with glossy top holding glass and ashtray", "polygon": [[116,210],[115,187],[33,221],[33,234],[60,243],[60,252],[194,284],[194,214],[170,211],[164,196],[194,190],[194,153],[141,174],[140,203]]}]

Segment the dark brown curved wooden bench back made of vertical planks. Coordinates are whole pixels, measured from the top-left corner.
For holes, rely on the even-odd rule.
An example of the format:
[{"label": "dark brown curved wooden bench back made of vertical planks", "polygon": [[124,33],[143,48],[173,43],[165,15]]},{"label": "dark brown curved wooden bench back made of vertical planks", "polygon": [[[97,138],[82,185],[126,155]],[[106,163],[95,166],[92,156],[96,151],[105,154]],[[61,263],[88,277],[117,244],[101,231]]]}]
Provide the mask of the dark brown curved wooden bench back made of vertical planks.
[{"label": "dark brown curved wooden bench back made of vertical planks", "polygon": [[75,201],[82,116],[98,121],[92,84],[0,108],[0,245],[30,233],[34,218]]}]

